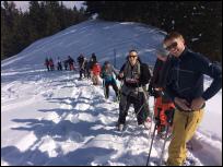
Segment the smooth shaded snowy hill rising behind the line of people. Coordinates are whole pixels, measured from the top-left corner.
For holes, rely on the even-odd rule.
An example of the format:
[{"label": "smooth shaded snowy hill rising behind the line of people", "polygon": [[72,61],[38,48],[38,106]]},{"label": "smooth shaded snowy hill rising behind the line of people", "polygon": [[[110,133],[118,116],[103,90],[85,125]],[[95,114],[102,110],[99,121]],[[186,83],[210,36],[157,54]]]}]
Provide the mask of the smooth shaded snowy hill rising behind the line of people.
[{"label": "smooth shaded snowy hill rising behind the line of people", "polygon": [[142,60],[154,62],[154,47],[163,39],[164,32],[137,23],[87,21],[71,26],[56,35],[39,39],[17,56],[3,61],[2,68],[35,68],[43,64],[46,57],[77,58],[81,52],[90,57],[95,52],[99,61],[114,61],[121,65],[129,49],[138,49]]}]

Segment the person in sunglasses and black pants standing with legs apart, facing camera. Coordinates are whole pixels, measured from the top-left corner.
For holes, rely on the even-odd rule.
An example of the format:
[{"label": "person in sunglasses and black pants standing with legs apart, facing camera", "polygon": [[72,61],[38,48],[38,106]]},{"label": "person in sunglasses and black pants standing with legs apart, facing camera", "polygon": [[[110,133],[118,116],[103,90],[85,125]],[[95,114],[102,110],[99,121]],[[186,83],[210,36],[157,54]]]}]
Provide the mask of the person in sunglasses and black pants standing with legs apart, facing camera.
[{"label": "person in sunglasses and black pants standing with legs apart, facing camera", "polygon": [[138,124],[148,127],[149,105],[145,85],[151,77],[148,64],[142,63],[136,50],[130,50],[128,60],[121,67],[119,80],[124,80],[119,103],[118,129],[121,131],[126,123],[128,109],[133,104]]}]

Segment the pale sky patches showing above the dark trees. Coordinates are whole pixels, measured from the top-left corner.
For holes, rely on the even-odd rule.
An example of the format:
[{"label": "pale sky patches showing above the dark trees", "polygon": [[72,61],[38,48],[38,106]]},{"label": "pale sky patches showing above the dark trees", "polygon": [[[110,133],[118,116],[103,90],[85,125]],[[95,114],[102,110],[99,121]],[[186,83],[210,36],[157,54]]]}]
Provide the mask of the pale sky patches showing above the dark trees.
[{"label": "pale sky patches showing above the dark trees", "polygon": [[[17,9],[22,9],[22,11],[26,11],[28,10],[28,2],[30,1],[14,1],[14,3],[16,4]],[[67,8],[73,8],[73,5],[75,5],[78,9],[80,9],[82,7],[82,3],[84,1],[62,1],[63,4],[67,7]]]}]

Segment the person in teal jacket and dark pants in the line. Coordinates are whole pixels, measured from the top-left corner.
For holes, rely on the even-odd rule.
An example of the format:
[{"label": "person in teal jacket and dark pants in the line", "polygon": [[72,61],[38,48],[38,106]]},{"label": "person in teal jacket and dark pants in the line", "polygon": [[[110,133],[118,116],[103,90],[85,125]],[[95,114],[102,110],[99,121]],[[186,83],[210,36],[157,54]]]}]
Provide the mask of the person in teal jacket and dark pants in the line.
[{"label": "person in teal jacket and dark pants in the line", "polygon": [[101,77],[104,80],[103,82],[105,86],[105,98],[109,97],[109,86],[111,85],[113,90],[116,93],[116,99],[119,100],[119,91],[114,74],[118,75],[109,61],[105,61],[101,72]]}]

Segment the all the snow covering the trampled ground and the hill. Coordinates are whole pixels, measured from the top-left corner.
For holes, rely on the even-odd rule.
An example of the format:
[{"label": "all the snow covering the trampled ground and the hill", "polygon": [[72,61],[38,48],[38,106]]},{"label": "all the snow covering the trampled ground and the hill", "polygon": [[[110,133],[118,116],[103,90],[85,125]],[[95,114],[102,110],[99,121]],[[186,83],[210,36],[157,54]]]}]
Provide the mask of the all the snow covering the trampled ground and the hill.
[{"label": "all the snow covering the trampled ground and the hill", "polygon": [[[151,131],[137,126],[133,108],[126,131],[116,130],[118,104],[110,88],[79,81],[78,72],[47,72],[46,56],[77,58],[95,52],[101,63],[124,63],[129,48],[154,64],[163,32],[138,23],[87,21],[40,39],[1,61],[1,165],[144,166]],[[211,80],[206,77],[206,87]],[[151,109],[153,98],[150,98]],[[154,126],[154,124],[153,124]],[[152,127],[153,129],[153,127]],[[155,140],[156,160],[163,141]],[[222,165],[222,91],[207,103],[204,118],[190,141],[199,165]],[[167,158],[167,146],[164,157]],[[154,165],[154,164],[150,164]]]}]

